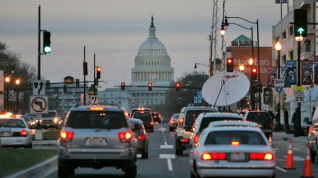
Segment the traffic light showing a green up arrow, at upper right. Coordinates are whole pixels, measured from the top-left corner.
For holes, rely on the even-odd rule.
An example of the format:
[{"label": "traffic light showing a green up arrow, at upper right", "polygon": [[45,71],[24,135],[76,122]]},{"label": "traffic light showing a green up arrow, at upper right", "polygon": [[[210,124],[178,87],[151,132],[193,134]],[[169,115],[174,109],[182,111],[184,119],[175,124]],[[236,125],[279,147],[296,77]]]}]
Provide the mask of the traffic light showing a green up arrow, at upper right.
[{"label": "traffic light showing a green up arrow, at upper right", "polygon": [[307,9],[294,10],[294,36],[307,36]]}]

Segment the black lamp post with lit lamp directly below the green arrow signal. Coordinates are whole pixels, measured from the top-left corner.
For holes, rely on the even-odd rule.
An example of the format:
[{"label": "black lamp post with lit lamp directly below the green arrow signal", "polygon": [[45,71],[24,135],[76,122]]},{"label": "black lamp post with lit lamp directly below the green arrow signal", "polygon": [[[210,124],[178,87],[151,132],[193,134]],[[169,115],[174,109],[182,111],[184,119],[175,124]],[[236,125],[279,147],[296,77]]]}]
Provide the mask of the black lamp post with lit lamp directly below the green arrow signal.
[{"label": "black lamp post with lit lamp directly below the green arrow signal", "polygon": [[[302,36],[296,36],[295,37],[297,41],[297,86],[301,86],[301,79],[300,79],[300,52],[301,52],[301,41],[303,39]],[[300,130],[301,130],[301,103],[298,102],[298,111],[299,112],[297,118],[295,118],[294,122],[294,137],[299,137]]]}]

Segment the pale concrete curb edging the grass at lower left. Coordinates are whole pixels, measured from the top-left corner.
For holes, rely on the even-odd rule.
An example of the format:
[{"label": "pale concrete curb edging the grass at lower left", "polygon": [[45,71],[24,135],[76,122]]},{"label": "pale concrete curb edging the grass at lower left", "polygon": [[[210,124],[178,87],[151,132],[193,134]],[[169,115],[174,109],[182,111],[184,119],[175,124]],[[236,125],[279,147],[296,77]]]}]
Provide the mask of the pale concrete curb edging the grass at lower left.
[{"label": "pale concrete curb edging the grass at lower left", "polygon": [[36,164],[30,168],[26,168],[22,171],[19,171],[17,173],[13,173],[11,175],[5,176],[4,178],[29,178],[32,175],[37,174],[38,172],[41,172],[43,170],[45,170],[46,168],[57,164],[58,162],[58,156],[53,156],[52,158],[41,162],[39,164]]}]

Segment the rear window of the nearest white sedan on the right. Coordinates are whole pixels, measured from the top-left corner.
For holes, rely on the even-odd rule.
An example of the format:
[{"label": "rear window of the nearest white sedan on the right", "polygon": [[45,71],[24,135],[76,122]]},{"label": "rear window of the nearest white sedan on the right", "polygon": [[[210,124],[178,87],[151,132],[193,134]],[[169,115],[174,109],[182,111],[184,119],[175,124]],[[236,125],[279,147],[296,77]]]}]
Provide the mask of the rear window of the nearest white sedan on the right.
[{"label": "rear window of the nearest white sedan on the right", "polygon": [[214,131],[206,137],[205,145],[227,145],[232,141],[239,141],[239,144],[266,145],[263,137],[255,131]]}]

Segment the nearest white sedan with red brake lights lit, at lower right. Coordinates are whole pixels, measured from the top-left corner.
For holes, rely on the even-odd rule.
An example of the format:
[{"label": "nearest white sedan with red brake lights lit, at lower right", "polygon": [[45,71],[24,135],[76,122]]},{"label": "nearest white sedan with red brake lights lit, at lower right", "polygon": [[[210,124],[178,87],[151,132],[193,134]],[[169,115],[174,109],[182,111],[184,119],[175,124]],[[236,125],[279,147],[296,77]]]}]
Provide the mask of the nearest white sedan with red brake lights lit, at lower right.
[{"label": "nearest white sedan with red brake lights lit, at lower right", "polygon": [[191,149],[194,177],[275,177],[275,153],[264,133],[251,127],[211,127]]}]

